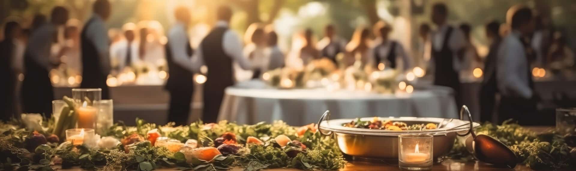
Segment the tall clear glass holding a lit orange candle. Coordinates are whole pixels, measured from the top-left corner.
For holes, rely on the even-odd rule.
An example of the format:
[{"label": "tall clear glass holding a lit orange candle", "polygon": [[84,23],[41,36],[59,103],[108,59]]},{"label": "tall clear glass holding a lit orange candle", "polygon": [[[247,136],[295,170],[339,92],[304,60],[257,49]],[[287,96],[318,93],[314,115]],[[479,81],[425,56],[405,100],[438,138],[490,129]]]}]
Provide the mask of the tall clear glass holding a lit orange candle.
[{"label": "tall clear glass holding a lit orange candle", "polygon": [[102,89],[100,88],[73,88],[75,111],[78,114],[78,128],[96,128],[98,105],[100,104]]}]

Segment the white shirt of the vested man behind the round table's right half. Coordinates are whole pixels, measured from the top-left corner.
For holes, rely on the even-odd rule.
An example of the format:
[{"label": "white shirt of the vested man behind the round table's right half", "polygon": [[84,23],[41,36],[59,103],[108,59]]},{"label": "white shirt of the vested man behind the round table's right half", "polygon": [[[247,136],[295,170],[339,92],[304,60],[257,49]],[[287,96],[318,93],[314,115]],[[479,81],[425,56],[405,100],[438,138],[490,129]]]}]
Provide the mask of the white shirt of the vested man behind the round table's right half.
[{"label": "white shirt of the vested man behind the round table's right half", "polygon": [[[372,50],[378,50],[378,54],[380,56],[378,56],[380,58],[380,61],[387,61],[387,57],[388,57],[388,53],[390,53],[391,50],[391,46],[392,46],[392,41],[386,40],[386,42],[384,42],[384,44],[382,44],[382,39],[380,38],[380,40],[377,40],[375,42],[380,42],[377,44],[373,44]],[[397,69],[401,69],[403,71],[410,69],[410,56],[408,56],[408,54],[406,53],[406,51],[404,51],[404,46],[402,46],[402,44],[400,44],[400,42],[396,42],[396,47],[395,47],[395,52],[396,52],[396,68]],[[372,55],[374,55],[374,51],[372,51]],[[374,59],[374,56],[369,56],[368,58],[368,63],[370,66],[376,66],[376,60]],[[401,66],[401,67],[400,67]]]}]

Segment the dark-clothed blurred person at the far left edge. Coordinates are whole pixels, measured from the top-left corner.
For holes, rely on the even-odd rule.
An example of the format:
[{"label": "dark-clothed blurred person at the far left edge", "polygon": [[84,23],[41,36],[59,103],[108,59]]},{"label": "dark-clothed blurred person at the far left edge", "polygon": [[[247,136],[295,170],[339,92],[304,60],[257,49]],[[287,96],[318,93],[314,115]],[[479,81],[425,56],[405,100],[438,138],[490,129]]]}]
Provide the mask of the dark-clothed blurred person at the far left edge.
[{"label": "dark-clothed blurred person at the far left edge", "polygon": [[16,47],[19,44],[21,27],[16,21],[6,22],[0,41],[0,120],[7,121],[14,116],[14,91],[16,91],[16,74],[13,70],[13,60],[16,60]]}]

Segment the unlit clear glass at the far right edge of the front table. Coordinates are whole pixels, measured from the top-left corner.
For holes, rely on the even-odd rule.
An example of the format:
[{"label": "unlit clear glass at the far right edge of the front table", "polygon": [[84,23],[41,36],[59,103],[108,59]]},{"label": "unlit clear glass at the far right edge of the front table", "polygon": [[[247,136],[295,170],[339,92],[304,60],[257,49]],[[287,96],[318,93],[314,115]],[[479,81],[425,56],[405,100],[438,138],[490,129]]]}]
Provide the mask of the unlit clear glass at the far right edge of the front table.
[{"label": "unlit clear glass at the far right edge of the front table", "polygon": [[576,108],[556,108],[556,131],[564,134],[576,134]]}]

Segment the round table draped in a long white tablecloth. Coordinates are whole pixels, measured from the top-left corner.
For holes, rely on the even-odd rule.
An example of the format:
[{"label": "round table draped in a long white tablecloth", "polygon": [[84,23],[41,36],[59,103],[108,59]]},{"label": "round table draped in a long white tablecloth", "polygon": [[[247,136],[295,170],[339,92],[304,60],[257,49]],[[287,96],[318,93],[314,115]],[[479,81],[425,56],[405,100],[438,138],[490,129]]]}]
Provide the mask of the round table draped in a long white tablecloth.
[{"label": "round table draped in a long white tablecloth", "polygon": [[[251,83],[253,84],[253,83]],[[282,120],[289,125],[316,123],[326,110],[331,118],[418,116],[457,118],[452,90],[431,86],[412,94],[377,94],[324,88],[279,90],[266,86],[226,88],[218,120],[240,124]]]}]

